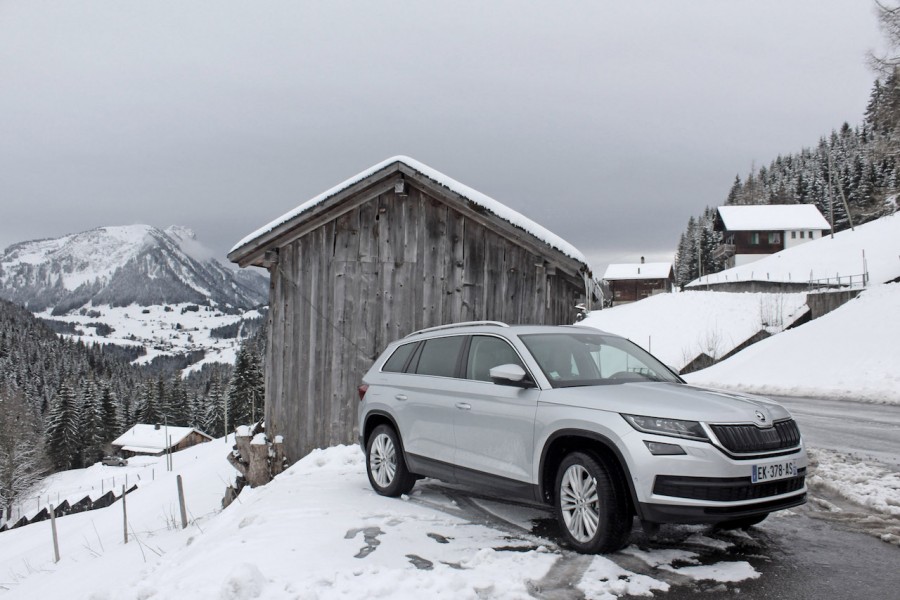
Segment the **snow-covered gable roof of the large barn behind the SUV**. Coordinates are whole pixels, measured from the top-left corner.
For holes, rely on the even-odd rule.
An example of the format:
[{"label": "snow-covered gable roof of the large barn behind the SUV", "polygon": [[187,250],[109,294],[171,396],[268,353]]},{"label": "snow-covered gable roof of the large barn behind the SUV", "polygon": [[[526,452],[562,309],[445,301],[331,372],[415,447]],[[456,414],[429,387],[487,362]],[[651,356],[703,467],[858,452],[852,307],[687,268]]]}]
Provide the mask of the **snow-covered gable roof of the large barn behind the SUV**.
[{"label": "snow-covered gable roof of the large barn behind the SUV", "polygon": [[314,212],[318,206],[326,203],[329,199],[340,195],[342,192],[347,191],[349,188],[352,188],[354,185],[363,182],[366,179],[379,174],[385,176],[396,171],[402,171],[403,169],[401,166],[405,166],[407,170],[411,169],[413,172],[430,179],[432,182],[438,184],[438,186],[445,188],[448,192],[452,192],[462,199],[479,206],[482,210],[491,213],[503,221],[530,234],[547,246],[555,248],[569,258],[581,262],[586,267],[588,266],[587,259],[577,248],[558,235],[547,230],[545,227],[538,225],[528,217],[501,204],[497,200],[444,175],[440,171],[433,169],[426,164],[409,158],[408,156],[394,156],[387,160],[383,160],[380,163],[369,167],[365,171],[357,173],[346,181],[339,183],[333,188],[322,192],[318,196],[307,200],[294,210],[278,217],[267,225],[260,227],[234,245],[228,253],[229,260],[233,262],[242,262],[247,256],[258,251],[260,247],[265,246],[274,238],[278,237],[279,231],[289,227],[292,221],[302,220],[302,217],[307,213]]}]

